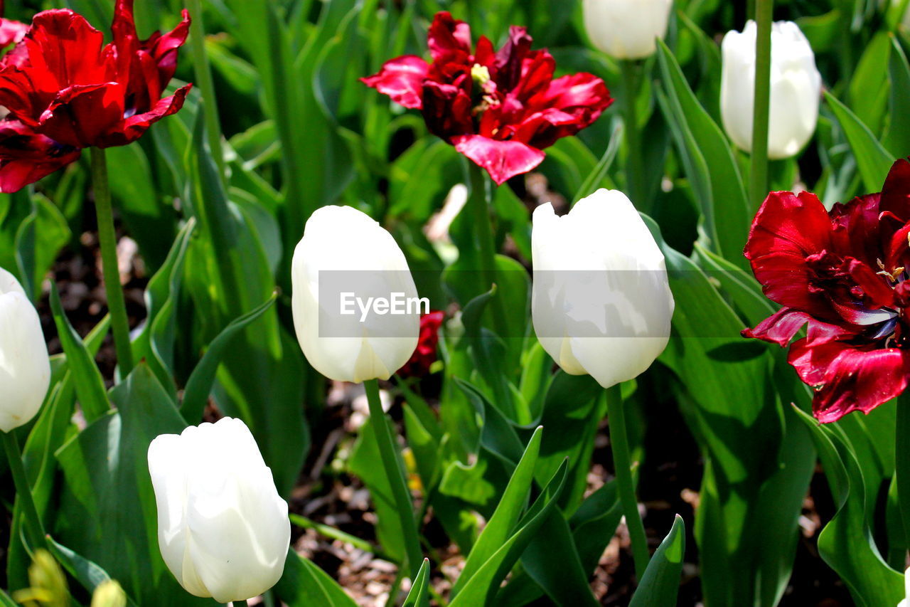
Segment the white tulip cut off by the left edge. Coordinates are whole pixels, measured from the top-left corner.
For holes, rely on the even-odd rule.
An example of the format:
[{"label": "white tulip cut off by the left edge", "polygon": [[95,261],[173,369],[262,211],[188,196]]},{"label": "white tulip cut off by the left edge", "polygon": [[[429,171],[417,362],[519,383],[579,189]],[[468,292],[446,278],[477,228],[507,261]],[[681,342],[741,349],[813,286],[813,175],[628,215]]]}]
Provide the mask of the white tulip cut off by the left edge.
[{"label": "white tulip cut off by the left edge", "polygon": [[35,417],[50,382],[35,306],[15,276],[0,268],[0,430],[9,432]]}]

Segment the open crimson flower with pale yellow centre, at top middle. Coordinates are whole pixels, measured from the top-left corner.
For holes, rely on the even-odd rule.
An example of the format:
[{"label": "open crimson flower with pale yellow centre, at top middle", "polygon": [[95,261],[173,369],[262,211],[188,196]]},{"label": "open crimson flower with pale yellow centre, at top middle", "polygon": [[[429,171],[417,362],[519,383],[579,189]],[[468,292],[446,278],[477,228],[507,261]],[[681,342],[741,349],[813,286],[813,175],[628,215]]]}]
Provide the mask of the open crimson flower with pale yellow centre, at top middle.
[{"label": "open crimson flower with pale yellow centre, at top middle", "polygon": [[531,50],[524,27],[512,26],[499,51],[480,36],[472,52],[468,24],[438,13],[428,41],[430,64],[398,57],[361,80],[420,109],[433,134],[499,184],[534,169],[544,148],[589,127],[612,103],[601,78],[582,73],[553,79],[556,62],[546,50]]}]

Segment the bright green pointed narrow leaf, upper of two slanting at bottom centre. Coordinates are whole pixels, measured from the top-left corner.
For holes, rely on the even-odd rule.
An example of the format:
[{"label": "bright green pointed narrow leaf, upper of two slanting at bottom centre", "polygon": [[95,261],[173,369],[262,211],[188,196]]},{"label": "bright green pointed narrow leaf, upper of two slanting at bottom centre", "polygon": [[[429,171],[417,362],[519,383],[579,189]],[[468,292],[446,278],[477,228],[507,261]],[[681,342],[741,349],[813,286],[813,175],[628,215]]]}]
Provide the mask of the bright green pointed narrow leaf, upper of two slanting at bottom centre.
[{"label": "bright green pointed narrow leaf, upper of two slanting at bottom centre", "polygon": [[509,480],[505,493],[496,510],[493,512],[490,522],[480,533],[480,537],[474,543],[470,550],[467,560],[464,563],[464,569],[461,571],[458,581],[452,586],[451,596],[457,597],[458,593],[470,582],[480,568],[499,550],[506,540],[511,536],[516,524],[521,517],[521,511],[528,502],[528,496],[531,494],[531,482],[534,480],[534,467],[537,464],[537,456],[541,450],[542,428],[534,430],[528,447],[524,450],[515,472]]}]

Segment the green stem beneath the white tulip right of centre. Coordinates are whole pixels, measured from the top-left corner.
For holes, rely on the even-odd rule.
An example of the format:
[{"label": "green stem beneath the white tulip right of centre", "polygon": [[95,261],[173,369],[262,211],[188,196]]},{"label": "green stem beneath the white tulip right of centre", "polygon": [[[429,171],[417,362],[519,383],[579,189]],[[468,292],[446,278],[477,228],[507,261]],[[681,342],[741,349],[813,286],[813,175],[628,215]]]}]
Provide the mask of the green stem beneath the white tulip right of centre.
[{"label": "green stem beneath the white tulip right of centre", "polygon": [[632,540],[632,557],[635,560],[635,575],[642,581],[648,567],[648,538],[644,533],[642,515],[635,498],[635,484],[632,480],[632,460],[629,456],[629,436],[626,432],[625,410],[622,405],[622,387],[612,386],[607,390],[607,418],[610,420],[610,447],[613,452],[613,467],[616,468],[616,484],[619,487],[622,512]]}]

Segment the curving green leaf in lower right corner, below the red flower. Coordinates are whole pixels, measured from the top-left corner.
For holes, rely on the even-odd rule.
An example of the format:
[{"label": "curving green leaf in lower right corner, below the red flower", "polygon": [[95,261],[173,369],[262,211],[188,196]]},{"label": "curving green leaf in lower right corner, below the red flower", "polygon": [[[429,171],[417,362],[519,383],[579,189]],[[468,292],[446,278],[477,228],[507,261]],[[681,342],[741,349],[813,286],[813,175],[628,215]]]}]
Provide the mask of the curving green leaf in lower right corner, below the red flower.
[{"label": "curving green leaf in lower right corner, below the red flower", "polygon": [[818,538],[822,558],[847,584],[860,607],[896,605],[905,598],[904,575],[882,559],[866,522],[863,471],[844,438],[796,410],[822,460],[837,512]]}]

